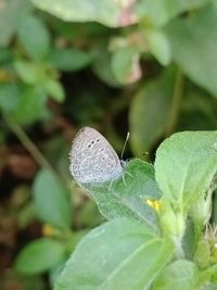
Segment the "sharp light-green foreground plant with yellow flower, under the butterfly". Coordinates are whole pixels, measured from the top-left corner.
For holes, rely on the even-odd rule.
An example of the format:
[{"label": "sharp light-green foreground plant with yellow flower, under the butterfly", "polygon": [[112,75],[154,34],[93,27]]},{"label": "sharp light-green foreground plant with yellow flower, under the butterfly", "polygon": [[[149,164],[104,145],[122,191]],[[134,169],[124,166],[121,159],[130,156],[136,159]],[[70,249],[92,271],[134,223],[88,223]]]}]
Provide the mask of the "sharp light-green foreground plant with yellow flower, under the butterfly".
[{"label": "sharp light-green foreground plant with yellow flower, under the butterfly", "polygon": [[126,186],[87,186],[108,222],[78,243],[54,289],[215,289],[216,140],[216,131],[175,134],[154,165],[127,164]]}]

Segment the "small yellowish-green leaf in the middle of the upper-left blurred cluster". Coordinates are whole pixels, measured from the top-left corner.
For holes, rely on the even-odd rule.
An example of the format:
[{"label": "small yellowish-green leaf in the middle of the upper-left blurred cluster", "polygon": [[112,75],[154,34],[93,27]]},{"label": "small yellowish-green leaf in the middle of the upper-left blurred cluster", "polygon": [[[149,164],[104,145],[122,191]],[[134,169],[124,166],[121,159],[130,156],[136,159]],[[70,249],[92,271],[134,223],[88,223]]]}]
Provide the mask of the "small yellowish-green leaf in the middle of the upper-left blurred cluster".
[{"label": "small yellowish-green leaf in the middle of the upper-left blurred cluster", "polygon": [[18,77],[28,85],[37,85],[47,78],[46,70],[41,64],[28,61],[15,61],[14,68]]}]

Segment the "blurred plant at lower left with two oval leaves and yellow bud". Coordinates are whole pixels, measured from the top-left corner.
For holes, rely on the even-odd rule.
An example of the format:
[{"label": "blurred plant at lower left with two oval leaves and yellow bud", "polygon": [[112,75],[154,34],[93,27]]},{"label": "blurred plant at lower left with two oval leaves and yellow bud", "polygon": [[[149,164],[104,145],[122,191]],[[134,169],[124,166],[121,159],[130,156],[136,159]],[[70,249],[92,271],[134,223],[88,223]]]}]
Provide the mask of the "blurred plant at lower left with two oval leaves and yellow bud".
[{"label": "blurred plant at lower left with two oval leaves and yellow bud", "polygon": [[43,236],[22,249],[14,263],[15,272],[22,275],[38,275],[50,272],[52,280],[56,269],[67,259],[68,252],[81,236],[73,232],[72,205],[68,189],[48,169],[41,169],[34,182],[34,211],[42,223]]}]

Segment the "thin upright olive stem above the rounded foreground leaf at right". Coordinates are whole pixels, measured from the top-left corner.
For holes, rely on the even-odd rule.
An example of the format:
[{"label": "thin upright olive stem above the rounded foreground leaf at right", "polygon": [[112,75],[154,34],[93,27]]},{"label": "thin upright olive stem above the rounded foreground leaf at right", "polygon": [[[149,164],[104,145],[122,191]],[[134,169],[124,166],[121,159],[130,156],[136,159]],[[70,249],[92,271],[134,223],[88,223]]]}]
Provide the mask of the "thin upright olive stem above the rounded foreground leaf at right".
[{"label": "thin upright olive stem above the rounded foreground leaf at right", "polygon": [[175,80],[170,112],[169,112],[166,130],[165,130],[166,137],[173,134],[177,125],[178,115],[179,115],[178,113],[179,113],[179,108],[180,108],[181,97],[182,97],[182,91],[183,91],[183,80],[184,80],[183,74],[180,70],[178,70],[176,80]]}]

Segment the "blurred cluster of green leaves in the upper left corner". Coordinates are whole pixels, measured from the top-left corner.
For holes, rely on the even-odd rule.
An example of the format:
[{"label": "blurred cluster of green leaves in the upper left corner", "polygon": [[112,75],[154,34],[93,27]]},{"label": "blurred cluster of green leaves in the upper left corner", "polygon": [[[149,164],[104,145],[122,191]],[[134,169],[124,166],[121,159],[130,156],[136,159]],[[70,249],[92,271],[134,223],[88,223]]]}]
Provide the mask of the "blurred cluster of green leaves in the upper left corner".
[{"label": "blurred cluster of green leaves in the upper left corner", "polygon": [[56,48],[48,23],[28,0],[10,0],[0,13],[7,27],[0,36],[1,113],[24,126],[49,119],[49,99],[58,103],[65,99],[60,70],[78,71],[89,65],[91,56],[76,49]]}]

